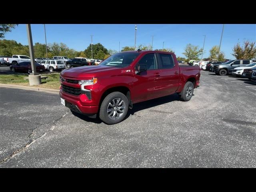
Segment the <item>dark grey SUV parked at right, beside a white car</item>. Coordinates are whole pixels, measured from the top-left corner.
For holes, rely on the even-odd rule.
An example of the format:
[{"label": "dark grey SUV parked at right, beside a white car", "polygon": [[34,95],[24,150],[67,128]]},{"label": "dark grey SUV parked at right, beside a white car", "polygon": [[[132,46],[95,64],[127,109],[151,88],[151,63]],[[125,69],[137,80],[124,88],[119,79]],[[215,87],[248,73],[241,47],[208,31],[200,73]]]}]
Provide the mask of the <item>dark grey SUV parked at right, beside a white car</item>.
[{"label": "dark grey SUV parked at right, beside a white car", "polygon": [[222,64],[217,64],[213,66],[213,71],[215,72],[215,74],[217,75],[227,75],[227,74],[231,74],[232,73],[232,69],[236,68],[236,67],[243,67],[246,66],[248,64],[252,63],[252,60],[232,60],[226,63],[222,63]]}]

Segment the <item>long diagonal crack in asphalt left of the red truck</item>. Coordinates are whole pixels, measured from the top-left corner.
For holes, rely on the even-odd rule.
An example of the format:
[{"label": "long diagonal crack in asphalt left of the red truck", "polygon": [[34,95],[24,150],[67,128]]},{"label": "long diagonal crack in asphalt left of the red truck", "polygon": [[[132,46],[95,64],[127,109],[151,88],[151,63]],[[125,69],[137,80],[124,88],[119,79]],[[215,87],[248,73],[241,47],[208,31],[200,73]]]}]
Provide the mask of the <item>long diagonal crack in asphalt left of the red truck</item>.
[{"label": "long diagonal crack in asphalt left of the red truck", "polygon": [[[28,148],[32,143],[34,143],[36,140],[42,138],[43,136],[45,136],[49,131],[54,130],[55,126],[56,126],[56,122],[58,122],[60,119],[64,118],[64,116],[66,116],[66,114],[68,114],[69,112],[66,112],[63,116],[61,116],[60,118],[57,118],[56,120],[53,120],[52,122],[52,126],[49,130],[47,130],[44,134],[41,134],[38,138],[36,139],[31,139],[31,136],[34,134],[34,130],[36,130],[37,128],[39,128],[40,126],[43,126],[45,124],[41,124],[39,126],[37,126],[36,128],[32,129],[32,132],[28,135],[29,141],[27,142],[27,144],[25,146],[23,146],[22,148],[14,151],[10,156],[4,158],[3,160],[0,161],[0,164],[7,162],[8,160],[10,160],[10,158],[14,157],[16,154],[18,154],[21,151],[24,151],[26,148]],[[51,124],[49,124],[51,125]]]}]

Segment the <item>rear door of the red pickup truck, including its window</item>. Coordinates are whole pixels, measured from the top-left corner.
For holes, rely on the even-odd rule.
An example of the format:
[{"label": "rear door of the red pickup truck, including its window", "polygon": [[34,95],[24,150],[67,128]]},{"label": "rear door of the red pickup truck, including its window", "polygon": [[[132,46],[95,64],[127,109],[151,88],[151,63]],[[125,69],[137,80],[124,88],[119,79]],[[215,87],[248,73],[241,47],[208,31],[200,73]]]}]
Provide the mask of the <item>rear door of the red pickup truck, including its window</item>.
[{"label": "rear door of the red pickup truck, including its window", "polygon": [[180,67],[174,62],[172,54],[158,54],[160,64],[160,94],[167,95],[176,92],[179,86]]}]

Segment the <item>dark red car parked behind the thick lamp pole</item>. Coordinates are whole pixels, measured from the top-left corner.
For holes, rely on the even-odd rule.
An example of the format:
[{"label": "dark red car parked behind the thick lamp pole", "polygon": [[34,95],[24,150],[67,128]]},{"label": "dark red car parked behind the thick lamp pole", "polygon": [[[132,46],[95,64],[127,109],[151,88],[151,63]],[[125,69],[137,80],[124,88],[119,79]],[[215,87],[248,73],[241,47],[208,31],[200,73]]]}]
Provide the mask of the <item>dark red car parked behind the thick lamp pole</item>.
[{"label": "dark red car parked behind the thick lamp pole", "polygon": [[[30,62],[20,62],[16,65],[10,66],[10,70],[13,72],[25,72],[25,73],[31,73],[31,63]],[[36,63],[36,72],[44,72],[45,68],[43,65]]]}]

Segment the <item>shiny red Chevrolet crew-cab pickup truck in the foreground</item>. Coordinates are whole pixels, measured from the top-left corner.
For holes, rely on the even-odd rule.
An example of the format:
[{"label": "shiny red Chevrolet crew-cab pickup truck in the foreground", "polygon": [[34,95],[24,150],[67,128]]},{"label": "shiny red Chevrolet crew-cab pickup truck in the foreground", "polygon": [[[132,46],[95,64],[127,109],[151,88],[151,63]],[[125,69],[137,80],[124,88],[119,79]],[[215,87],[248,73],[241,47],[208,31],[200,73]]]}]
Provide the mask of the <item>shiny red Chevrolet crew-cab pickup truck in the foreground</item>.
[{"label": "shiny red Chevrolet crew-cab pickup truck in the foreground", "polygon": [[190,100],[199,78],[199,66],[179,66],[174,53],[120,52],[97,66],[63,70],[60,100],[72,111],[116,124],[134,103],[174,93]]}]

